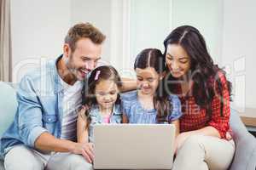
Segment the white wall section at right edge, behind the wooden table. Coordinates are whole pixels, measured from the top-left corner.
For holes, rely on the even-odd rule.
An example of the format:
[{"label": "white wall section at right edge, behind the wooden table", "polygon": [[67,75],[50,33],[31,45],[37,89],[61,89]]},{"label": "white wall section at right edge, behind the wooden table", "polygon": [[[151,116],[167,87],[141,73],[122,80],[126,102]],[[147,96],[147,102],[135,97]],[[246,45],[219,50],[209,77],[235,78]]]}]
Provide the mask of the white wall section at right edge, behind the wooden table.
[{"label": "white wall section at right edge, behind the wooden table", "polygon": [[256,1],[225,0],[222,64],[234,86],[233,106],[256,108]]}]

